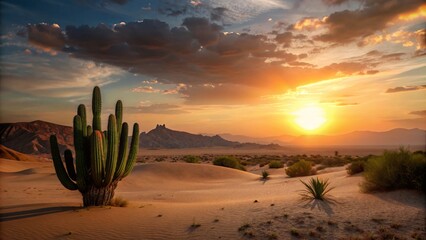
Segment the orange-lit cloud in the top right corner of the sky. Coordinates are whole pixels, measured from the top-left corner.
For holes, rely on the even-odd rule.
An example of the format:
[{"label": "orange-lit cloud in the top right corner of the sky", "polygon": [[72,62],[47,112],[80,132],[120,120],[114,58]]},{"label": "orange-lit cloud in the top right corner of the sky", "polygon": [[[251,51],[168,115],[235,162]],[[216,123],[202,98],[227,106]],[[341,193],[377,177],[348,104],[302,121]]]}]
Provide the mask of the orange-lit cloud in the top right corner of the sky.
[{"label": "orange-lit cloud in the top right corner of the sky", "polygon": [[359,10],[344,10],[328,16],[323,23],[328,31],[315,39],[336,44],[357,41],[386,28],[399,14],[414,11],[423,3],[423,0],[366,0]]}]

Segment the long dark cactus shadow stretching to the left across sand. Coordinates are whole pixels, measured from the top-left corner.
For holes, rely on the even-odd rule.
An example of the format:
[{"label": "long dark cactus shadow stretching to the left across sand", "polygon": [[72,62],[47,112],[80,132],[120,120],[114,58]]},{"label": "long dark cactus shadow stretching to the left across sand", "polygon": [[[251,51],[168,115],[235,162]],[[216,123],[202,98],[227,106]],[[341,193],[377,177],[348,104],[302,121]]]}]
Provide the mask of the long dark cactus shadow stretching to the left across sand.
[{"label": "long dark cactus shadow stretching to the left across sand", "polygon": [[76,209],[80,209],[80,207],[70,207],[70,206],[43,207],[43,208],[36,208],[36,209],[23,210],[23,211],[14,211],[14,212],[12,211],[12,212],[0,213],[0,222],[37,217],[37,216],[42,216],[46,214],[66,212],[66,211],[71,211]]}]

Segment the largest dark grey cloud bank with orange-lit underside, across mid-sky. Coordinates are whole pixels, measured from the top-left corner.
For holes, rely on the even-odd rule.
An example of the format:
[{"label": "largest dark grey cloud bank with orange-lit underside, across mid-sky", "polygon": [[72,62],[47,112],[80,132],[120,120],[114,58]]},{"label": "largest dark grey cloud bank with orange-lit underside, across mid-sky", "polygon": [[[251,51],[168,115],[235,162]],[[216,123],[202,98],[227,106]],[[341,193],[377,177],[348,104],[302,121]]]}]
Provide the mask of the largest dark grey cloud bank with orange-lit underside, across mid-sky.
[{"label": "largest dark grey cloud bank with orange-lit underside, across mid-sky", "polygon": [[[215,94],[226,94],[223,99],[229,102],[236,102],[231,98],[246,102],[324,79],[365,74],[378,65],[354,59],[316,68],[297,62],[306,54],[289,53],[265,35],[225,33],[208,19],[195,17],[173,28],[150,19],[113,27],[67,26],[65,32],[56,25],[36,24],[28,26],[28,39],[76,58],[156,78],[159,83],[187,85],[176,93],[194,104],[215,102]],[[235,91],[239,86],[245,95],[224,86]]]}]

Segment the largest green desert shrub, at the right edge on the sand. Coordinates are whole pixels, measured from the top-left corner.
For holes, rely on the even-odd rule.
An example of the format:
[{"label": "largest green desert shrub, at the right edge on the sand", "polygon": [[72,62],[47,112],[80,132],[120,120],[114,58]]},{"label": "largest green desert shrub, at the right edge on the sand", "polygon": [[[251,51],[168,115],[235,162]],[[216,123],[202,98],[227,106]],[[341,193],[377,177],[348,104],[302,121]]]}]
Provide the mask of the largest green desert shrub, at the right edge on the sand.
[{"label": "largest green desert shrub, at the right edge on the sand", "polygon": [[426,157],[407,149],[385,151],[364,166],[364,191],[417,189],[426,192]]}]

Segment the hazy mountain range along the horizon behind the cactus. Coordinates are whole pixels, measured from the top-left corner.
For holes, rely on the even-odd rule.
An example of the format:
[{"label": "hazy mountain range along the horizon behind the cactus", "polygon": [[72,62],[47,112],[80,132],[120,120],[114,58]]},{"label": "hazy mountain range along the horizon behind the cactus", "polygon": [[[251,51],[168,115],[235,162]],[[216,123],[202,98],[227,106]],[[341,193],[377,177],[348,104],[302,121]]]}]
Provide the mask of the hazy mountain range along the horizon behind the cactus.
[{"label": "hazy mountain range along the horizon behind the cactus", "polygon": [[[0,124],[0,144],[26,154],[49,154],[49,137],[56,134],[61,151],[73,146],[72,127],[44,121]],[[243,135],[221,134],[206,136],[175,131],[157,125],[140,134],[142,148],[267,148],[281,146],[424,146],[426,131],[421,129],[393,129],[386,132],[357,131],[337,136],[276,136],[253,138]],[[281,145],[281,146],[280,146]]]}]

